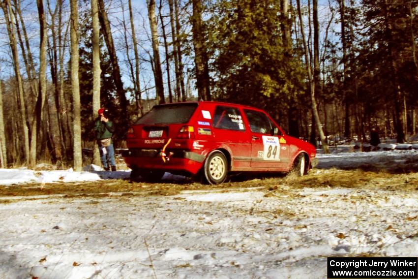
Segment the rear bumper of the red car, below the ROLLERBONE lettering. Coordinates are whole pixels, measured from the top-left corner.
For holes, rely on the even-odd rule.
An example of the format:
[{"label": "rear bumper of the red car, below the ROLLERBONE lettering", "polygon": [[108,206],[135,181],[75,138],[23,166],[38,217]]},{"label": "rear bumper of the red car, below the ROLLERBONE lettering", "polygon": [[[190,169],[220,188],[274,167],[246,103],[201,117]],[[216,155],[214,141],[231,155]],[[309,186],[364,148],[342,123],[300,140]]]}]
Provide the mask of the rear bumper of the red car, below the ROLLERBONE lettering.
[{"label": "rear bumper of the red car, below the ROLLERBONE lettering", "polygon": [[169,159],[161,156],[160,150],[155,149],[129,149],[122,152],[126,165],[133,169],[154,169],[167,172],[188,172],[196,174],[205,160],[200,155],[186,150],[166,150]]}]

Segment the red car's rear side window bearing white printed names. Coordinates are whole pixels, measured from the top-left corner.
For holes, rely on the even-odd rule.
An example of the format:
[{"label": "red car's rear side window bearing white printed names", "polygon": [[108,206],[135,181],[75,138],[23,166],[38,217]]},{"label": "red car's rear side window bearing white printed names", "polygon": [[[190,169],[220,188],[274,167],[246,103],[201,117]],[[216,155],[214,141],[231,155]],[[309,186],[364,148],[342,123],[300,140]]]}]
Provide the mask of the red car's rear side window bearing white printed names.
[{"label": "red car's rear side window bearing white printed names", "polygon": [[212,126],[214,128],[243,131],[241,113],[238,108],[217,106],[213,114]]}]

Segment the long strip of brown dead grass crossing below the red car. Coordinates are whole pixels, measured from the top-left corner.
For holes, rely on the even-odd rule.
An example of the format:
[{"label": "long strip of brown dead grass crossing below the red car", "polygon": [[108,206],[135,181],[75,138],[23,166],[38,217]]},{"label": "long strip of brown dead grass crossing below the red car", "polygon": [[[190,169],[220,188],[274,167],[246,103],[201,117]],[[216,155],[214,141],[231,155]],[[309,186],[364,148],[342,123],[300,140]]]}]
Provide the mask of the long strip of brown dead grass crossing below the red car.
[{"label": "long strip of brown dead grass crossing below the red car", "polygon": [[[230,191],[235,188],[260,187],[267,195],[295,194],[291,189],[306,187],[373,187],[386,190],[418,190],[418,173],[391,174],[387,172],[367,172],[362,170],[313,170],[299,178],[269,177],[227,182],[217,186],[200,183],[144,183],[129,180],[100,180],[83,183],[26,184],[0,187],[0,203],[28,199],[48,198],[58,195],[63,198],[75,197],[131,197],[169,196],[183,190],[218,189]],[[9,198],[7,198],[9,197]]]}]

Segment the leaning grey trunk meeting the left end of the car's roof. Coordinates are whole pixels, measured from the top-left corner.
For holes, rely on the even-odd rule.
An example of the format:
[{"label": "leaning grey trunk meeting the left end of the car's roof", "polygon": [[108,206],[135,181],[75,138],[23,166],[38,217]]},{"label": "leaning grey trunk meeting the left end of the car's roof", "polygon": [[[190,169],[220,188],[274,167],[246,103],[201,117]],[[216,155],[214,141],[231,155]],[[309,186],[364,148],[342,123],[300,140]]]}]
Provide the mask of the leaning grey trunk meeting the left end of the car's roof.
[{"label": "leaning grey trunk meeting the left end of the car's roof", "polygon": [[160,104],[165,103],[163,74],[161,71],[160,53],[158,50],[157,19],[155,17],[155,0],[149,0],[148,4],[149,26],[151,28],[152,51],[154,55],[154,77],[156,97]]}]

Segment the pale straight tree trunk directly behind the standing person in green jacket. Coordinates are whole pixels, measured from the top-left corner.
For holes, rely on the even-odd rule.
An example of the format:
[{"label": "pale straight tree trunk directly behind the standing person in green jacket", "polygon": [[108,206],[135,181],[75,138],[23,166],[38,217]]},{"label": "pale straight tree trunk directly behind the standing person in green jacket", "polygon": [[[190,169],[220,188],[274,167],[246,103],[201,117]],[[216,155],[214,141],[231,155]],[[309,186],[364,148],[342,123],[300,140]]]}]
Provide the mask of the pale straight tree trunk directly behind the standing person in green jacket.
[{"label": "pale straight tree trunk directly behind the standing person in green jacket", "polygon": [[[93,119],[98,117],[97,111],[100,108],[100,27],[99,10],[97,0],[91,0],[91,18],[92,18],[92,54],[93,54]],[[96,145],[93,145],[93,164],[100,166],[100,154]]]}]

